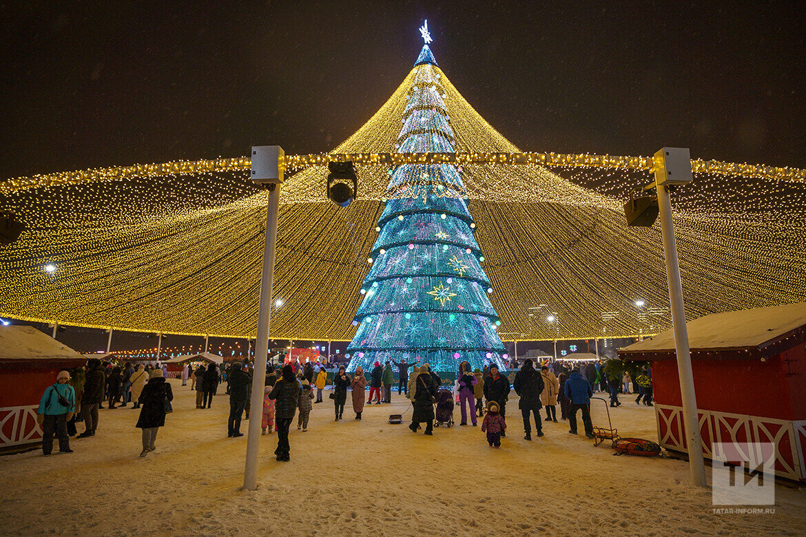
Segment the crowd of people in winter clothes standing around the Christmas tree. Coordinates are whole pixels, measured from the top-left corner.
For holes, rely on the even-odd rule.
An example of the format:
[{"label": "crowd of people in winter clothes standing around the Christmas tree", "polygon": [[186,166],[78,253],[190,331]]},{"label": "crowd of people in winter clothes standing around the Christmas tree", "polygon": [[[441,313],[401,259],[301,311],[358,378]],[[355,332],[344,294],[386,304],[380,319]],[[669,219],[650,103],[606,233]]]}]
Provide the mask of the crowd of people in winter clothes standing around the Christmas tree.
[{"label": "crowd of people in winter clothes standing around the Christmas tree", "polygon": [[[434,403],[438,400],[442,378],[427,363],[418,366],[405,361],[387,361],[381,366],[376,361],[369,378],[365,377],[360,366],[352,375],[348,375],[345,367],[340,366],[333,376],[330,394],[334,402],[335,421],[343,419],[347,390],[351,390],[356,420],[362,419],[364,405],[372,404],[373,398],[376,404],[391,403],[393,363],[400,372],[397,393],[405,394],[412,403],[409,428],[412,432],[418,432],[425,425],[424,434],[433,436],[434,422],[439,421],[434,414]],[[460,426],[467,426],[469,418],[470,424],[477,427],[478,418],[484,417],[481,431],[486,434],[488,444],[497,448],[501,446],[501,438],[506,436],[506,407],[512,390],[519,396],[518,409],[521,411],[525,440],[532,440],[532,422],[538,437],[544,435],[544,420],[558,422],[558,403],[559,419],[568,422],[568,432],[578,434],[579,414],[585,435],[592,438],[590,399],[594,390],[608,392],[612,407],[621,405],[618,401],[620,392],[638,393],[636,403],[652,404],[651,373],[648,368],[637,378],[630,378],[625,373],[622,378],[613,378],[611,381],[605,367],[598,362],[583,363],[573,370],[570,366],[562,361],[554,361],[535,367],[534,362],[527,358],[510,386],[509,379],[501,374],[495,364],[485,366],[484,370],[472,370],[469,362],[462,361],[453,393],[450,394],[451,409],[455,400],[460,408]],[[413,368],[410,375],[409,367]],[[323,402],[327,376],[326,366],[322,363],[287,364],[277,370],[273,366],[267,367],[261,429],[264,435],[277,432],[277,461],[290,460],[289,428],[297,412],[297,429],[308,431],[314,403]],[[135,427],[142,429],[143,450],[140,456],[147,456],[156,449],[157,432],[164,427],[165,416],[172,412],[173,393],[166,378],[164,366],[139,364],[135,367],[128,363],[116,366],[101,362],[98,358],[90,358],[83,368],[60,371],[56,382],[44,390],[39,403],[38,420],[44,433],[43,453],[49,455],[52,452],[54,436],[59,440],[60,452],[72,452],[69,438],[77,434],[77,420],[83,420],[85,424],[85,431],[77,435],[79,438],[94,436],[98,430],[98,410],[103,408],[106,401],[110,409],[117,408],[116,403],[120,403],[120,407],[127,407],[130,402],[133,403],[132,408],[139,409]],[[226,367],[210,363],[195,369],[189,364],[185,366],[181,378],[182,386],[187,386],[187,381],[191,381],[190,389],[196,391],[197,409],[210,408],[219,384],[226,382],[226,394],[230,399],[227,436],[243,436],[240,432],[241,420],[244,412],[246,419],[249,419],[251,410],[252,370],[248,361],[231,362]],[[630,382],[633,383],[633,392],[629,390]],[[545,416],[542,415],[544,409]]]}]

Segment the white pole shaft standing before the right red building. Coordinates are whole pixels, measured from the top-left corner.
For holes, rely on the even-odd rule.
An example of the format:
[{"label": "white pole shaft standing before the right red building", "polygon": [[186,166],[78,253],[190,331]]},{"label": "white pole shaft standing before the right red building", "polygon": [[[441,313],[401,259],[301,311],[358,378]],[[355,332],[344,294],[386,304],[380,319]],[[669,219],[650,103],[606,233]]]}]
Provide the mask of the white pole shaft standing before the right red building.
[{"label": "white pole shaft standing before the right red building", "polygon": [[[664,151],[662,149],[661,151]],[[659,153],[661,153],[659,151]],[[685,150],[688,152],[688,150]],[[658,155],[655,155],[656,159]],[[663,157],[661,157],[663,158]],[[688,164],[688,176],[691,176],[691,161]],[[665,166],[664,166],[665,168]],[[666,171],[662,171],[665,175]],[[671,171],[669,174],[671,175]],[[692,372],[692,355],[688,348],[688,328],[686,313],[683,309],[683,286],[680,283],[680,266],[675,245],[675,227],[671,220],[671,196],[668,186],[657,184],[658,208],[660,214],[661,234],[663,235],[663,254],[666,258],[666,275],[669,284],[669,304],[671,321],[675,333],[675,349],[677,370],[680,377],[680,394],[683,399],[683,424],[686,429],[686,445],[688,447],[688,465],[695,485],[705,486],[705,465],[703,461],[702,440],[700,439],[700,419],[697,415],[697,400],[694,393],[694,374]]]}]

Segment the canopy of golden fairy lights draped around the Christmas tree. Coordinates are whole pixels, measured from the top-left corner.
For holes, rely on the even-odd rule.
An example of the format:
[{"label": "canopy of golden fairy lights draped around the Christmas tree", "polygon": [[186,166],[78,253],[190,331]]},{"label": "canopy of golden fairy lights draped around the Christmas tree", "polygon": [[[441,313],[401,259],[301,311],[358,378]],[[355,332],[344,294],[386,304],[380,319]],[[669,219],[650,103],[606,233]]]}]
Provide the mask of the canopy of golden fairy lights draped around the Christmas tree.
[{"label": "canopy of golden fairy lights draped around the Christmas tree", "polygon": [[[330,154],[287,157],[271,337],[351,340],[389,172],[427,159],[460,168],[505,339],[668,328],[659,226],[627,228],[621,209],[651,182],[651,159],[522,153],[435,66],[455,155],[397,153],[415,73]],[[326,199],[330,159],[357,163],[347,209]],[[673,196],[688,316],[806,300],[806,171],[692,167]],[[0,246],[0,316],[254,337],[266,198],[248,168],[243,157],[0,182],[0,210],[27,224]]]}]

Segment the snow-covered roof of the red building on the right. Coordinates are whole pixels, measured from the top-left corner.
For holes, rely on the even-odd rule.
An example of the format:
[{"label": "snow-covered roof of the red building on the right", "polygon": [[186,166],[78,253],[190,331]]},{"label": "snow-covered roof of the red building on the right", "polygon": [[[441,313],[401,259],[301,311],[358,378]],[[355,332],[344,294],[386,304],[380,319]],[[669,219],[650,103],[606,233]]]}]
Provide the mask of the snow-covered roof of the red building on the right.
[{"label": "snow-covered roof of the red building on the right", "polygon": [[[762,347],[784,334],[806,326],[806,302],[738,312],[712,313],[690,320],[688,346],[694,349],[741,349]],[[675,333],[670,328],[657,336],[638,341],[618,353],[675,351]]]}]

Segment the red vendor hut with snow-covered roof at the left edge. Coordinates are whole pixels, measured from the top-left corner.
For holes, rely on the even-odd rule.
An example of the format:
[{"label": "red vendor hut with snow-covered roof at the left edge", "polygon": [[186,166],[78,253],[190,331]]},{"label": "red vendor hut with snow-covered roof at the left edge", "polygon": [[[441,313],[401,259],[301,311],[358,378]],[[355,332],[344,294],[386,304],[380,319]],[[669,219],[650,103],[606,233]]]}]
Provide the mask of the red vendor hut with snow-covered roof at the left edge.
[{"label": "red vendor hut with snow-covered roof at the left edge", "polygon": [[86,361],[32,326],[0,326],[0,451],[42,441],[36,411],[45,388]]}]

